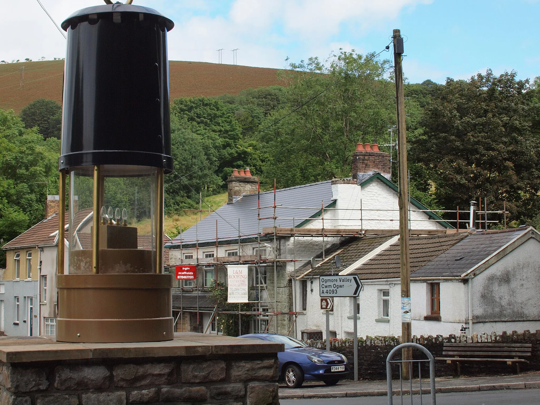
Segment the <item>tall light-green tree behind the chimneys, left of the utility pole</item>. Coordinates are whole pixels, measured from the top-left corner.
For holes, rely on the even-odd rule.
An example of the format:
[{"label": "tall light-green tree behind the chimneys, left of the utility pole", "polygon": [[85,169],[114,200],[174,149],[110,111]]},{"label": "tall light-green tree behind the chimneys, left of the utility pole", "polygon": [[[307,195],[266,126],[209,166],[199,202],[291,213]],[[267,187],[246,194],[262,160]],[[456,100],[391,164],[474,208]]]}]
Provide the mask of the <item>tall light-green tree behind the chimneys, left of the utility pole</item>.
[{"label": "tall light-green tree behind the chimneys, left of the utility pole", "polygon": [[288,187],[350,176],[356,143],[386,141],[387,126],[395,123],[389,67],[388,60],[376,59],[373,53],[354,51],[341,51],[326,65],[318,58],[291,64],[282,76],[288,85],[287,104],[270,114],[262,129],[341,80],[258,135],[268,154],[266,184],[274,178],[280,187]]}]

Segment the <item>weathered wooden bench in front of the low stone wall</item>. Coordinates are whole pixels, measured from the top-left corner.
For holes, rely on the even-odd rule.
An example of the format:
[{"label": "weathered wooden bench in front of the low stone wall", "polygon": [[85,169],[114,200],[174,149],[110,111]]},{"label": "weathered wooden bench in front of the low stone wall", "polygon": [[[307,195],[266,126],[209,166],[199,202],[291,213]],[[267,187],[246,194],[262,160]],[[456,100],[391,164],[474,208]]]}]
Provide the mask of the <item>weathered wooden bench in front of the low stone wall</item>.
[{"label": "weathered wooden bench in front of the low stone wall", "polygon": [[460,375],[460,362],[505,361],[519,374],[519,363],[528,363],[532,352],[531,343],[444,343],[442,357],[454,366],[454,374]]}]

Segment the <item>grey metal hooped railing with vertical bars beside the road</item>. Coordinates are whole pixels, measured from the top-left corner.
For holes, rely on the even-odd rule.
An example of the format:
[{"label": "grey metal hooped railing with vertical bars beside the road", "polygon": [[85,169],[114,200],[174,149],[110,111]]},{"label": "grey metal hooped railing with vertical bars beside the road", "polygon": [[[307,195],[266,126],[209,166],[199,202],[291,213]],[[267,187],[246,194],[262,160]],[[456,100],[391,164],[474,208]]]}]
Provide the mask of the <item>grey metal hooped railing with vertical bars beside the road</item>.
[{"label": "grey metal hooped railing with vertical bars beside the road", "polygon": [[[412,347],[415,349],[419,349],[421,352],[426,354],[428,357],[424,360],[392,360],[394,355],[401,349],[404,349],[406,347]],[[392,389],[392,363],[399,363],[400,365],[400,398],[401,398],[401,405],[403,405],[403,363],[408,363],[409,367],[409,395],[410,395],[410,403],[413,405],[413,363],[418,363],[418,378],[420,382],[420,405],[423,405],[423,398],[422,398],[422,370],[421,366],[423,362],[429,361],[429,382],[430,382],[430,392],[431,392],[431,405],[436,405],[436,399],[435,399],[435,359],[433,358],[433,355],[429,352],[428,349],[425,347],[418,345],[417,343],[401,343],[401,345],[398,345],[392,349],[392,351],[388,354],[388,357],[386,357],[386,383],[387,383],[387,389],[388,389],[388,405],[393,405],[393,389]]]}]

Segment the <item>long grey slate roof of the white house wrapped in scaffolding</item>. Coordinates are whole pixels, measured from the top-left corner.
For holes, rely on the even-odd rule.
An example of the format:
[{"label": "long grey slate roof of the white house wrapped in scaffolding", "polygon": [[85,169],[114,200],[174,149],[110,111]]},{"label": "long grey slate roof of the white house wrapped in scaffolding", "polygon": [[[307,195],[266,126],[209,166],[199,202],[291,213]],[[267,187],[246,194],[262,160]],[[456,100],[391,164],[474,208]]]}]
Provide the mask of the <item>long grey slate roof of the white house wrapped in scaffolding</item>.
[{"label": "long grey slate roof of the white house wrapped in scaffolding", "polygon": [[[316,217],[321,211],[320,208],[297,209],[280,208],[289,207],[320,207],[321,201],[327,207],[332,204],[332,180],[321,181],[320,183],[306,184],[302,186],[281,188],[276,190],[276,213],[278,217],[287,218],[311,218]],[[274,204],[274,191],[260,193],[260,206],[267,207]],[[197,227],[199,236],[199,246],[206,244],[215,244],[215,221],[218,221],[218,240],[238,239],[238,219],[240,218],[241,238],[257,239],[259,224],[257,219],[258,194],[248,194],[238,199],[233,204],[225,204],[217,211],[208,215],[208,217],[198,222],[197,226],[192,226],[182,233],[183,246],[194,245],[197,239]],[[261,208],[260,230],[265,226],[274,226],[272,218],[273,208]],[[301,220],[296,220],[295,226],[300,225]],[[277,226],[293,227],[292,219],[278,219]],[[180,235],[168,242],[165,247],[180,245]]]}]

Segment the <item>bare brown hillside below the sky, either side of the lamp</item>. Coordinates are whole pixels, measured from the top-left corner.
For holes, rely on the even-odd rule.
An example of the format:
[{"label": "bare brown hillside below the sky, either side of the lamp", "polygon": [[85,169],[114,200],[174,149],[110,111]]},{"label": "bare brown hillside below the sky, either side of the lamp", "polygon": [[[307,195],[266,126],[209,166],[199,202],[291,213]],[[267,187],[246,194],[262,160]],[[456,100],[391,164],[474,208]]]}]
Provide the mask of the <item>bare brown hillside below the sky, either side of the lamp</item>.
[{"label": "bare brown hillside below the sky, either side of the lamp", "polygon": [[[24,89],[21,68],[24,66]],[[169,62],[171,100],[178,97],[238,94],[241,90],[283,84],[277,69],[206,62]],[[62,103],[64,60],[0,65],[0,109],[21,112],[38,98]]]}]

